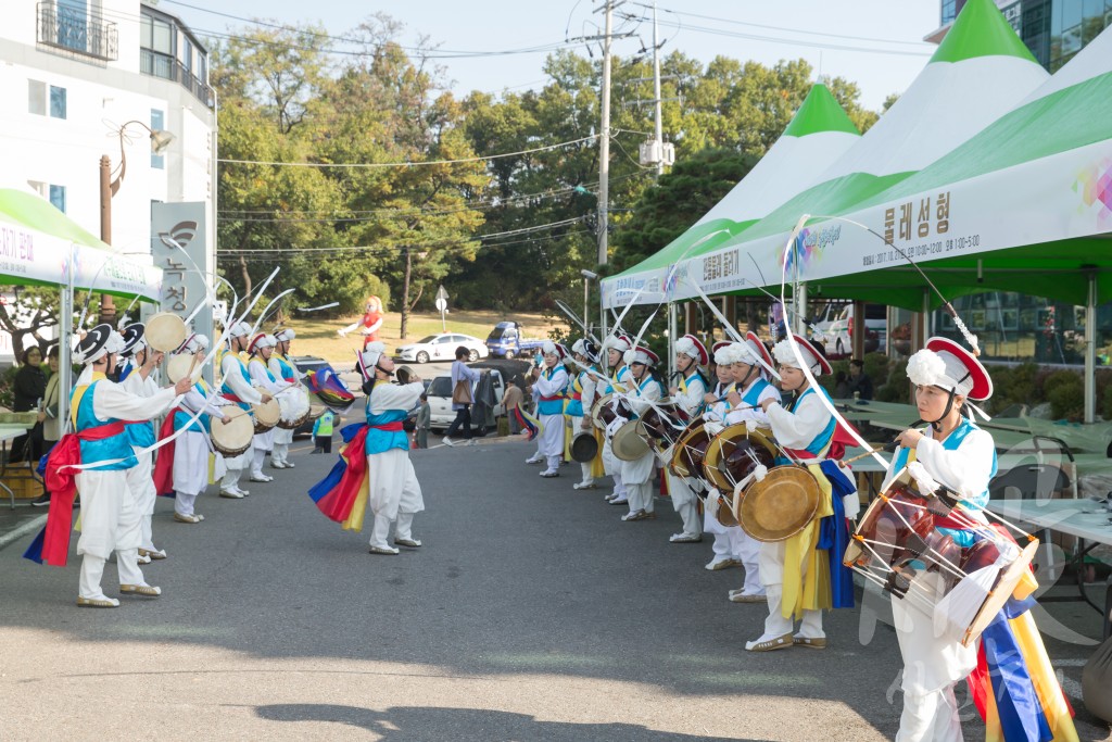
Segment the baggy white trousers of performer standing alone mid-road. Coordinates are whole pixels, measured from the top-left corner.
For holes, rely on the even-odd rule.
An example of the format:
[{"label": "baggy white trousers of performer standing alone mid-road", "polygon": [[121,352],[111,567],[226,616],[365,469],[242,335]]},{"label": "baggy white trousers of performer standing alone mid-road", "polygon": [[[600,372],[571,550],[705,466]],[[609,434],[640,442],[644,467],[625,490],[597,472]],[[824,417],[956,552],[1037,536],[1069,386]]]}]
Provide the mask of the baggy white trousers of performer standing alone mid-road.
[{"label": "baggy white trousers of performer standing alone mid-road", "polygon": [[395,538],[413,538],[414,514],[425,509],[420,483],[409,452],[390,448],[367,456],[367,506],[375,514],[370,545],[389,548],[390,523],[397,521]]}]

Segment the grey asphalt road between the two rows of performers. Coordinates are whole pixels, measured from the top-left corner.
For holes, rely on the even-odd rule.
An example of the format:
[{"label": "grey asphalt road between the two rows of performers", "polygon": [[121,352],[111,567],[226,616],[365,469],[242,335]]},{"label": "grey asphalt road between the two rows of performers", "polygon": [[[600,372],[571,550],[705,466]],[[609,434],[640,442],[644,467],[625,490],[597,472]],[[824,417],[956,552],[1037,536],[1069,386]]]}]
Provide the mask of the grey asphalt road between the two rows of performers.
[{"label": "grey asphalt road between the two rows of performers", "polygon": [[[709,542],[667,543],[677,525],[667,502],[659,520],[622,523],[624,508],[602,491],[570,489],[572,467],[539,478],[522,442],[414,452],[425,546],[378,556],[366,531],[342,532],[309,502],[335,457],[307,451],[296,444],[298,467],[245,485],[246,499],[203,496],[201,524],[173,522],[160,502],[156,542],[170,558],[146,567],[165,591],[157,600],[77,609],[76,558],[26,562],[29,537],[0,551],[0,739],[868,741],[896,731],[894,633],[840,611],[825,652],[747,654],[764,606],[725,600],[742,575],[703,568]],[[109,566],[106,587],[113,581]],[[1099,626],[1082,607],[1078,625]],[[1092,647],[1053,637],[1048,647],[1071,691]],[[1082,739],[1108,738],[1079,713]],[[965,733],[983,728],[971,720]]]}]

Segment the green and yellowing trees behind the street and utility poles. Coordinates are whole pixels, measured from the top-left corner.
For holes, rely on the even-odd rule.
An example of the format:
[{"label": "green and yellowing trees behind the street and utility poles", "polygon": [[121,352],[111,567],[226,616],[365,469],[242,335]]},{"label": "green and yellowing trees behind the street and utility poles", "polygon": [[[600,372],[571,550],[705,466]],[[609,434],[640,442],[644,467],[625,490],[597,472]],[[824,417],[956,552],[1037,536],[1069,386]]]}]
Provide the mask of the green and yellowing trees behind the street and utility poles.
[{"label": "green and yellowing trees behind the street and utility poles", "polygon": [[[275,267],[299,301],[546,308],[582,300],[595,269],[602,65],[569,51],[538,89],[457,98],[401,27],[371,16],[331,57],[311,26],[252,27],[218,46],[219,268],[238,290]],[[651,62],[614,58],[608,259],[629,266],[664,247],[744,177],[812,85],[811,66],[719,57],[663,60],[662,123],[677,165],[656,182],[638,161],[653,130]],[[826,81],[866,129],[855,83]],[[280,167],[380,164],[384,167]],[[421,164],[428,165],[421,165]],[[409,164],[398,166],[398,164]],[[577,306],[577,304],[575,304]]]}]

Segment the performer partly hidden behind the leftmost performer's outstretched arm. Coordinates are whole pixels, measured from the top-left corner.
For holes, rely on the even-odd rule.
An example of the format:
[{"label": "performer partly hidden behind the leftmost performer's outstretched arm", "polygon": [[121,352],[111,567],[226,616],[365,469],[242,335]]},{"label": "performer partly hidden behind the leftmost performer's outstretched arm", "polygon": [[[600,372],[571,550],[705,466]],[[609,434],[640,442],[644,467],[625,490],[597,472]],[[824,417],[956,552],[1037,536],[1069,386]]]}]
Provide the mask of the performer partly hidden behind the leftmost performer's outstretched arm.
[{"label": "performer partly hidden behind the leftmost performer's outstretched arm", "polygon": [[[127,365],[120,374],[120,384],[137,397],[151,397],[158,394],[155,369],[162,363],[162,354],[147,346],[143,330],[142,323],[123,328],[120,356],[127,359]],[[152,541],[151,518],[158,499],[152,478],[153,455],[149,451],[140,453],[155,445],[155,424],[151,421],[126,423],[125,431],[136,454],[136,465],[128,469],[128,486],[136,495],[140,515],[139,564],[149,564],[151,560],[166,558],[166,552],[157,548]]]}]

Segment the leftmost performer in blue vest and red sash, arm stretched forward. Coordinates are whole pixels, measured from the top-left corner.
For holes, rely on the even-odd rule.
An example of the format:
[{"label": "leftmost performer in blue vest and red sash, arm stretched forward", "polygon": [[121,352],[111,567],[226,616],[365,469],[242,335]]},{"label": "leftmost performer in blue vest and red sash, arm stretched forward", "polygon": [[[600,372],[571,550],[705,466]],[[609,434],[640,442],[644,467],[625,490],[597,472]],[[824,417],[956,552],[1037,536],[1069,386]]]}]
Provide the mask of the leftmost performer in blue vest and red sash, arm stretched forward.
[{"label": "leftmost performer in blue vest and red sash, arm stretched forward", "polygon": [[[81,493],[81,537],[77,553],[81,561],[81,577],[77,604],[89,607],[116,607],[119,601],[107,597],[100,581],[105,562],[112,552],[119,568],[120,593],[156,596],[161,590],[148,585],[138,565],[142,526],[135,494],[128,486],[127,468],[135,464],[130,441],[123,435],[123,423],[147,421],[161,415],[179,394],[189,389],[189,382],[159,389],[149,397],[130,394],[119,384],[107,379],[115,372],[116,354],[123,338],[109,325],[98,325],[78,344],[73,359],[85,364],[77,379],[70,404],[70,416],[78,436],[82,465],[103,462],[93,468],[80,469],[77,489]],[[59,446],[64,448],[64,443]],[[70,462],[51,463],[66,465]],[[56,495],[51,499],[50,517],[68,511],[69,502]],[[56,502],[57,501],[57,502]],[[69,513],[64,513],[69,518]],[[48,524],[49,532],[49,524]]]}]

